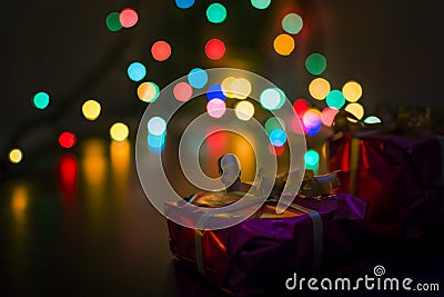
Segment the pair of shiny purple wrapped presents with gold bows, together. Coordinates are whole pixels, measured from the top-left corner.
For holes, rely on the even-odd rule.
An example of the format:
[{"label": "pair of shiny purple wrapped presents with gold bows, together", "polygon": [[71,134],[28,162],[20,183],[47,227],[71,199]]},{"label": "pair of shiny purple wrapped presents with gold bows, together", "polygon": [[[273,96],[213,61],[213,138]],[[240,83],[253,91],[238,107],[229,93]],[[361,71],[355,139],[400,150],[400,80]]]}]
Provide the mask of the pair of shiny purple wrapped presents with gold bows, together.
[{"label": "pair of shiny purple wrapped presents with gold bows, together", "polygon": [[[442,228],[444,138],[344,130],[327,146],[334,174],[306,175],[283,212],[269,197],[248,219],[208,229],[210,220],[233,218],[220,214],[202,224],[199,208],[165,205],[179,218],[168,220],[172,254],[229,295],[250,296],[283,288],[293,273],[309,277],[343,267],[369,234],[402,240]],[[184,200],[216,208],[241,198],[225,191]]]}]

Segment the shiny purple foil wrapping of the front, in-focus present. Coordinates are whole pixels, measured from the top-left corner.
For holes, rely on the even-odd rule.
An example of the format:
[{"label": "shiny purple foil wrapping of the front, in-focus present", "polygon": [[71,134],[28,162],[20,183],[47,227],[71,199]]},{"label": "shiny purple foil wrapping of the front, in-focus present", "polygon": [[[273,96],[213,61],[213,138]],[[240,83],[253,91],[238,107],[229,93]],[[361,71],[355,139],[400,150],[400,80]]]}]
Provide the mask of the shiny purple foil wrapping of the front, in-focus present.
[{"label": "shiny purple foil wrapping of the front, in-focus present", "polygon": [[[236,199],[231,194],[218,196],[200,194],[193,204]],[[168,220],[171,251],[230,295],[249,296],[283,288],[293,273],[309,276],[344,265],[363,236],[366,202],[351,195],[296,198],[281,215],[275,206],[266,201],[249,219],[220,230],[192,229]],[[202,216],[176,204],[165,207],[169,216],[188,221]]]}]

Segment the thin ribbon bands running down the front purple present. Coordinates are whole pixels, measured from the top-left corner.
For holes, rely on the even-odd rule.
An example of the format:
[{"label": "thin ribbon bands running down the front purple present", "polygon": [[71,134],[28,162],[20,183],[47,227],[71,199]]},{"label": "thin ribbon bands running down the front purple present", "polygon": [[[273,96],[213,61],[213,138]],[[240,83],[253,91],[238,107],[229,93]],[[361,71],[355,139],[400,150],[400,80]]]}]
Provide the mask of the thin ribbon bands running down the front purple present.
[{"label": "thin ribbon bands running down the front purple present", "polygon": [[[249,201],[242,204],[242,206],[240,206],[239,208],[248,207],[248,206],[251,206],[253,204],[259,204],[259,202],[261,202],[259,199],[249,200]],[[321,268],[322,249],[323,249],[323,225],[322,225],[321,215],[314,209],[303,207],[295,202],[291,204],[290,207],[309,215],[310,218],[312,219],[312,227],[313,227],[313,266],[312,266],[312,269],[313,269],[313,273],[317,273]],[[202,248],[202,235],[203,235],[204,225],[210,217],[212,217],[213,215],[216,215],[216,214],[222,214],[222,212],[223,211],[220,211],[220,210],[218,211],[218,209],[208,211],[199,218],[196,226],[195,226],[195,231],[194,231],[195,260],[196,260],[198,270],[203,276],[205,275],[205,268],[204,268],[204,263],[203,263],[203,248]]]}]

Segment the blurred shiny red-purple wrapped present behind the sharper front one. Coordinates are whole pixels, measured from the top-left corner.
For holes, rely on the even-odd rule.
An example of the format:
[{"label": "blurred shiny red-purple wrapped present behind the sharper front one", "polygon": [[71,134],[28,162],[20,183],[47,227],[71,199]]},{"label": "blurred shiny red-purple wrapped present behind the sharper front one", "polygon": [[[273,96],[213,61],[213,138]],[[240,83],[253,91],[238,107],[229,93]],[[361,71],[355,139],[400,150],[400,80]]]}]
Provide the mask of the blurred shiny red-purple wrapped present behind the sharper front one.
[{"label": "blurred shiny red-purple wrapped present behind the sharper front one", "polygon": [[341,191],[369,201],[366,227],[381,236],[417,238],[438,226],[443,141],[432,136],[350,133],[329,143]]}]

